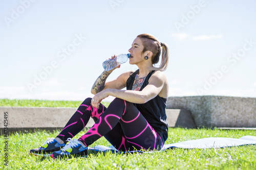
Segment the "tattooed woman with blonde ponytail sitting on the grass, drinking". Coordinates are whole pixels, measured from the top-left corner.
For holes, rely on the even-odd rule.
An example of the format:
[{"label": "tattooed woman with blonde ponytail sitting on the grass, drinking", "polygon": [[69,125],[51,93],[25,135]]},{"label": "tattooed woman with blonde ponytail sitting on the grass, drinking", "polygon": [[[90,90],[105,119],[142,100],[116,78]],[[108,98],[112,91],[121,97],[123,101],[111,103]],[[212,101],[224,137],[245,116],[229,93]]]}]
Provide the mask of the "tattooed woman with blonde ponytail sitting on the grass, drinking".
[{"label": "tattooed woman with blonde ponytail sitting on the grass, drinking", "polygon": [[[160,67],[154,67],[161,51]],[[168,64],[167,44],[150,34],[141,34],[133,41],[129,53],[129,63],[139,69],[124,72],[110,82],[106,79],[120,65],[103,71],[92,87],[94,97],[83,101],[56,138],[48,138],[41,147],[31,150],[31,154],[51,154],[52,158],[87,155],[87,147],[102,136],[119,151],[162,148],[168,137],[165,113],[168,82],[161,72]],[[121,90],[124,87],[127,90]],[[105,108],[100,102],[109,95],[116,99]],[[78,140],[72,139],[90,117],[95,121],[94,126]]]}]

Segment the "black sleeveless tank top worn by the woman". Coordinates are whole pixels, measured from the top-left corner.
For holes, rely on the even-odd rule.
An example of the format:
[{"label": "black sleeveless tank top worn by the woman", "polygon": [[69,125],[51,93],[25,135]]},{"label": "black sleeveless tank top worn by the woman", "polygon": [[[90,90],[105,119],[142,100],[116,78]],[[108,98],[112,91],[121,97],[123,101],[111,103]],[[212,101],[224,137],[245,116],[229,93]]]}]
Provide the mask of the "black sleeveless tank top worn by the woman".
[{"label": "black sleeveless tank top worn by the woman", "polygon": [[[138,70],[136,70],[126,81],[126,89],[132,90],[133,83],[135,80],[136,75],[138,74]],[[150,79],[151,75],[155,71],[151,71],[146,79],[144,80],[140,91],[148,84],[148,80]],[[163,143],[168,137],[168,123],[166,121],[166,102],[167,99],[161,98],[157,95],[154,99],[144,103],[144,104],[136,104],[136,108],[140,111],[140,113],[145,117],[148,124],[150,124],[154,130],[160,135],[162,138]]]}]

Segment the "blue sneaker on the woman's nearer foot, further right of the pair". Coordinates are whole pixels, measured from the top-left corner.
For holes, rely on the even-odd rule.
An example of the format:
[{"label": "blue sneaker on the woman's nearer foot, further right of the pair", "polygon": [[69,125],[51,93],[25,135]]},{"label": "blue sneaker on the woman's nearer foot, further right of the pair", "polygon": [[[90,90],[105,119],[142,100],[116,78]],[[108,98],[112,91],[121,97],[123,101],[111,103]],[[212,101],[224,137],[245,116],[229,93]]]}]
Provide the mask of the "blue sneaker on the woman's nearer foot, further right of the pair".
[{"label": "blue sneaker on the woman's nearer foot, further right of the pair", "polygon": [[51,154],[53,159],[87,155],[87,147],[83,148],[77,139],[68,138],[67,141],[69,141],[69,143],[64,148]]}]

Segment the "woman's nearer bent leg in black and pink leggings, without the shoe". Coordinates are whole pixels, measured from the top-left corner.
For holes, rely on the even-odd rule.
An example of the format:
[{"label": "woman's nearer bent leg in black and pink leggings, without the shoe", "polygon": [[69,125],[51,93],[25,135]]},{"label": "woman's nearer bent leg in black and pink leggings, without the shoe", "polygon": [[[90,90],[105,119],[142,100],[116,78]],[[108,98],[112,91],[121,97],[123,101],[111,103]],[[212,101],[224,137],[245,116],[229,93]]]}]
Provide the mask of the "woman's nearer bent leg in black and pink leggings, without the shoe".
[{"label": "woman's nearer bent leg in black and pink leggings, without the shoe", "polygon": [[162,140],[130,102],[115,99],[79,138],[86,146],[104,136],[118,150],[161,149]]}]

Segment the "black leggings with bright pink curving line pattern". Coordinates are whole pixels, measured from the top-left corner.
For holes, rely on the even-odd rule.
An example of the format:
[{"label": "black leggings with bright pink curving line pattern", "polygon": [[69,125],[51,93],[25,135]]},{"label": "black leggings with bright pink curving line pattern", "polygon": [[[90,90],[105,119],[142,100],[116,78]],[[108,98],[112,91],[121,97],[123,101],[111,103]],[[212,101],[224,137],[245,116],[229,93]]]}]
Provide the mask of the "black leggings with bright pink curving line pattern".
[{"label": "black leggings with bright pink curving line pattern", "polygon": [[92,117],[94,126],[78,139],[86,146],[104,136],[119,151],[162,148],[161,137],[132,103],[116,98],[108,109],[102,104],[97,109],[92,107],[91,100],[83,101],[58,138],[65,142],[73,138]]}]

